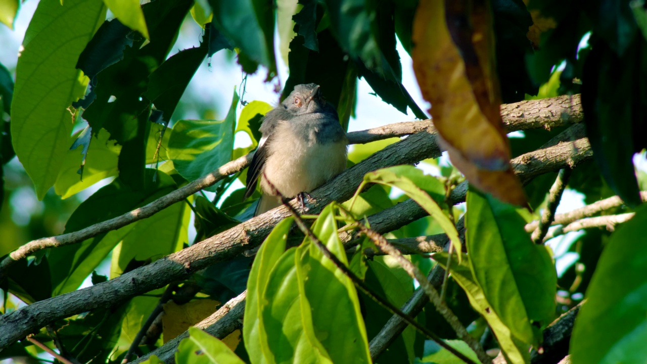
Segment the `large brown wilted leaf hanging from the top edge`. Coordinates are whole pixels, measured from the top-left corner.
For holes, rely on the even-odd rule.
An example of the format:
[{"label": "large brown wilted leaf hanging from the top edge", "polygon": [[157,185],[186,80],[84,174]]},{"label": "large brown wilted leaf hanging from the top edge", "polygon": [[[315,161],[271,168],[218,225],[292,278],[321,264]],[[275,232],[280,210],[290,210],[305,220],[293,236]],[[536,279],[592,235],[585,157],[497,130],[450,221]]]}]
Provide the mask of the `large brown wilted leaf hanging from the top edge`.
[{"label": "large brown wilted leaf hanging from the top edge", "polygon": [[499,114],[488,9],[462,4],[421,1],[413,25],[413,69],[452,163],[477,187],[524,205]]}]

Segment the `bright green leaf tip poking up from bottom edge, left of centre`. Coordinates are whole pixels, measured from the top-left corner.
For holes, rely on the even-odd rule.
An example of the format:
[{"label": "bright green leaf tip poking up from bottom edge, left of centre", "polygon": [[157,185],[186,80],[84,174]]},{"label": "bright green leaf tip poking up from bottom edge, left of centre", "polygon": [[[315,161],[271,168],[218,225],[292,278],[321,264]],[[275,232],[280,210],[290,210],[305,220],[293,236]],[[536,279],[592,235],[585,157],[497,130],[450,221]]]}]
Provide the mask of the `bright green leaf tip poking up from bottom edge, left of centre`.
[{"label": "bright green leaf tip poking up from bottom edge, left of centre", "polygon": [[245,364],[219,339],[190,327],[189,337],[180,342],[175,362],[183,364]]}]

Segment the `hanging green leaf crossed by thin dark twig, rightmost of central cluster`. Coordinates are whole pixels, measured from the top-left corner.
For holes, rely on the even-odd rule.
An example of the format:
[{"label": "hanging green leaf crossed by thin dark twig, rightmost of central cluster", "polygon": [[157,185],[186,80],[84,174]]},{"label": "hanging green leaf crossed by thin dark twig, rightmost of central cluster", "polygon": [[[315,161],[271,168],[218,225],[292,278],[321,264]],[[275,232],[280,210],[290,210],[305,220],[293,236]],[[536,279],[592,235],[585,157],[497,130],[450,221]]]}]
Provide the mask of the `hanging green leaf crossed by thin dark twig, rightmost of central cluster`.
[{"label": "hanging green leaf crossed by thin dark twig, rightmost of central cluster", "polygon": [[[337,234],[334,204],[323,209],[312,227],[313,233],[337,258],[348,265],[344,245]],[[333,363],[353,358],[353,363],[371,363],[366,328],[353,282],[325,258],[308,239],[296,256],[302,307],[312,312],[314,333]],[[322,289],[324,288],[325,289]],[[309,304],[309,310],[305,307]],[[340,330],[340,328],[343,328]]]}]

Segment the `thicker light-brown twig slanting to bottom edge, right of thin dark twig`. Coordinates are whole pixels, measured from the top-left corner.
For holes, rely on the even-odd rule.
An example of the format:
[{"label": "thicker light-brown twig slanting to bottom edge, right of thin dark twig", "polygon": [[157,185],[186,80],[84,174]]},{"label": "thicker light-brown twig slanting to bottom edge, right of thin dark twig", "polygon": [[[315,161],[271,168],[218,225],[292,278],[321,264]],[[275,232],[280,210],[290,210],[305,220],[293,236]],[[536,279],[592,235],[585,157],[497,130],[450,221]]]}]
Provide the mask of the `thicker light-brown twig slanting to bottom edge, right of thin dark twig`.
[{"label": "thicker light-brown twig slanting to bottom edge, right of thin dark twig", "polygon": [[454,312],[452,312],[452,310],[444,303],[438,291],[433,288],[433,286],[427,281],[426,277],[424,277],[420,269],[413,265],[413,263],[411,263],[409,260],[404,258],[400,251],[398,249],[395,249],[393,245],[389,244],[381,234],[376,233],[375,231],[362,224],[358,224],[358,229],[360,229],[362,233],[366,234],[366,236],[373,240],[375,245],[377,245],[382,251],[385,251],[386,253],[388,253],[388,255],[395,258],[399,266],[402,267],[402,269],[404,269],[404,271],[406,271],[411,278],[419,282],[422,290],[424,290],[424,292],[429,296],[429,299],[432,302],[433,306],[435,306],[436,310],[441,315],[443,315],[447,323],[452,326],[459,339],[465,341],[465,343],[467,343],[467,345],[469,345],[469,347],[474,350],[481,363],[491,363],[492,359],[490,359],[490,357],[485,353],[485,350],[483,350],[481,344],[476,339],[474,339],[474,337],[472,337],[467,332],[467,330],[465,330],[465,326],[463,326]]}]

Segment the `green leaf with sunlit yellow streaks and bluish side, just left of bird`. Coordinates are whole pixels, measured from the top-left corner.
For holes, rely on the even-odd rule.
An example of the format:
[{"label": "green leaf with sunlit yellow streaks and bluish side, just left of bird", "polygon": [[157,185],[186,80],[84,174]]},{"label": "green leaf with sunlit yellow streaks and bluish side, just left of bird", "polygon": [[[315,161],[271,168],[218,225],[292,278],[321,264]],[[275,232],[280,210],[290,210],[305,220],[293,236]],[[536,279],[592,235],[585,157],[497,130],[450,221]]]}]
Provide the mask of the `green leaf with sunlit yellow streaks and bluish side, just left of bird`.
[{"label": "green leaf with sunlit yellow streaks and bluish side, just left of bird", "polygon": [[[173,126],[168,156],[182,177],[194,181],[232,159],[238,100],[234,91],[225,120],[180,120]],[[215,187],[206,190],[214,192]]]}]

